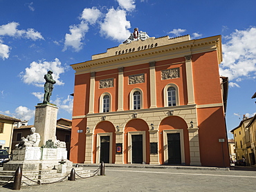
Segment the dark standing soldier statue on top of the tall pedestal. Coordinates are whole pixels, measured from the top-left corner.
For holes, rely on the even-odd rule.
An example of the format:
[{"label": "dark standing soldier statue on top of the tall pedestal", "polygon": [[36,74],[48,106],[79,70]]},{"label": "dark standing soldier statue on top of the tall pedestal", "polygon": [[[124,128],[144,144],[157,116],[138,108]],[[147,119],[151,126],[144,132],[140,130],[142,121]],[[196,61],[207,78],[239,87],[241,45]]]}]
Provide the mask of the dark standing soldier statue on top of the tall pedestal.
[{"label": "dark standing soldier statue on top of the tall pedestal", "polygon": [[48,70],[48,73],[44,75],[44,79],[46,79],[46,83],[44,84],[44,102],[43,104],[47,104],[50,102],[50,97],[53,92],[53,84],[56,83],[56,81],[53,79],[53,71]]}]

